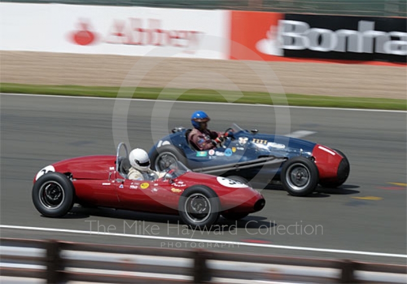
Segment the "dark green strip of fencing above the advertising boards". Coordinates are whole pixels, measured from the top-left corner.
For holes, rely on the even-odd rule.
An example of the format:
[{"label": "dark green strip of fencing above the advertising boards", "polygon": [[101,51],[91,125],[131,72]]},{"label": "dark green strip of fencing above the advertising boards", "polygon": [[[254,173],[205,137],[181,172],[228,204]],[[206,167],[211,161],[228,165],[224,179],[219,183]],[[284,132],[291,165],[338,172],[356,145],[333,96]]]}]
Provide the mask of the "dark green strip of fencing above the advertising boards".
[{"label": "dark green strip of fencing above the advertising boards", "polygon": [[356,16],[407,16],[405,0],[8,0],[21,3],[229,9]]}]

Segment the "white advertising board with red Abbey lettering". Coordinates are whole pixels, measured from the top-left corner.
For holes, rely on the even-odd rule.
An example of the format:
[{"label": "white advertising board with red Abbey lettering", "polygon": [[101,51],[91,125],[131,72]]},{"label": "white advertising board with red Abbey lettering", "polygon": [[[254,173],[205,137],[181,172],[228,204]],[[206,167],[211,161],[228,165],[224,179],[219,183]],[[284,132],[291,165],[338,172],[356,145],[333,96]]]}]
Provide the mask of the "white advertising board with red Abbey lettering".
[{"label": "white advertising board with red Abbey lettering", "polygon": [[228,11],[0,3],[0,50],[228,59]]}]

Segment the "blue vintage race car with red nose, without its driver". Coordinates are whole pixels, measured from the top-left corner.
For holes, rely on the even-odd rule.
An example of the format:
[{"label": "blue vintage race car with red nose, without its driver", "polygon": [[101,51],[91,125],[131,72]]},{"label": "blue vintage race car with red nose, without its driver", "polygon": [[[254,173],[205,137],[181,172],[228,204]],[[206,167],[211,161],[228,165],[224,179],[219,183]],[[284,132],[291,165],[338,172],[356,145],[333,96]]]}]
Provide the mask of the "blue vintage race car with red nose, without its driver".
[{"label": "blue vintage race car with red nose, without its driver", "polygon": [[193,172],[240,183],[280,181],[295,196],[312,193],[318,183],[338,187],[350,173],[350,163],[341,151],[303,139],[260,134],[234,124],[226,129],[221,147],[199,151],[188,141],[190,131],[177,127],[159,140],[149,152],[151,167],[162,171],[179,160]]}]

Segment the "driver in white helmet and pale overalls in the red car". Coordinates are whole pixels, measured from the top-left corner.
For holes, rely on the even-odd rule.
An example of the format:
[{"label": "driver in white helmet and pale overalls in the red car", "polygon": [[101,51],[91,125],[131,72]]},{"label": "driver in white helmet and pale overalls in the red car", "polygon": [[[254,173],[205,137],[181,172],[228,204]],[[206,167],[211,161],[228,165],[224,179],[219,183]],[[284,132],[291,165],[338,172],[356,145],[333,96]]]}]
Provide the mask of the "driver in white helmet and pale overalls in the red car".
[{"label": "driver in white helmet and pale overalls in the red car", "polygon": [[129,154],[131,167],[127,178],[138,181],[154,181],[161,178],[165,173],[153,171],[150,168],[149,154],[143,149],[134,149]]}]

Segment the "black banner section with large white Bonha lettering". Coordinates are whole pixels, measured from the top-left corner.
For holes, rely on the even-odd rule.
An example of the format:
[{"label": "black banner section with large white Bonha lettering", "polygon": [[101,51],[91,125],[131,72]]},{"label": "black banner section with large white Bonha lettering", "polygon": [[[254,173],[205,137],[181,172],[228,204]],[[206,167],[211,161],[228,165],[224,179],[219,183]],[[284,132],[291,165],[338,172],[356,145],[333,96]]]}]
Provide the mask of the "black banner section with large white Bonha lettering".
[{"label": "black banner section with large white Bonha lettering", "polygon": [[284,57],[407,62],[407,19],[285,14],[278,24]]}]

